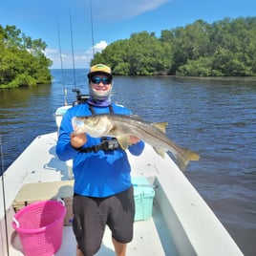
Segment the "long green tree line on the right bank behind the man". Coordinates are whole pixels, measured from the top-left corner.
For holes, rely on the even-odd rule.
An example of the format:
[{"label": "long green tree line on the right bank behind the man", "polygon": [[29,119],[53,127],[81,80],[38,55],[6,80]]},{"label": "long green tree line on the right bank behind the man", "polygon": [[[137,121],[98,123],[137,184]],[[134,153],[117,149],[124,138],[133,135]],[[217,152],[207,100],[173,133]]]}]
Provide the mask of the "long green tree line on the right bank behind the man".
[{"label": "long green tree line on the right bank behind the man", "polygon": [[114,75],[254,76],[256,17],[224,18],[208,24],[139,32],[117,40],[91,65],[105,63]]}]

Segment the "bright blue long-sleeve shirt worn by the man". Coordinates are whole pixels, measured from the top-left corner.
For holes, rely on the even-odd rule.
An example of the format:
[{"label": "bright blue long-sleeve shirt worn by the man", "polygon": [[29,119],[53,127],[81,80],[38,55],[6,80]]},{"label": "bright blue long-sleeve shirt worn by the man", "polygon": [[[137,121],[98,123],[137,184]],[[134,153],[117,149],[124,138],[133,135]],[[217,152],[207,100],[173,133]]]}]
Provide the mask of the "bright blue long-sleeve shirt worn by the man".
[{"label": "bright blue long-sleeve shirt worn by the man", "polygon": [[[115,114],[130,115],[122,106],[112,104]],[[108,107],[94,106],[96,114],[109,113]],[[71,145],[70,134],[73,132],[72,117],[92,115],[87,103],[70,108],[64,115],[56,145],[56,154],[60,160],[73,160],[76,194],[91,197],[108,197],[128,189],[131,186],[131,166],[126,152],[121,148],[114,151],[80,153]],[[100,138],[87,135],[83,147],[92,147],[101,143]],[[139,156],[144,142],[129,146],[131,154]]]}]

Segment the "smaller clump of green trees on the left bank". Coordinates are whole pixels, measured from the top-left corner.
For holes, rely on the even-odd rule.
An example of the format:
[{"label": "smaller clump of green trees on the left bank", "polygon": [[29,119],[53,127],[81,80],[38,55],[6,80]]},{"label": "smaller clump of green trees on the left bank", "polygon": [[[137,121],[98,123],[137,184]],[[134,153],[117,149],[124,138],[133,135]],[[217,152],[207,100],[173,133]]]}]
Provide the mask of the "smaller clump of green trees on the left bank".
[{"label": "smaller clump of green trees on the left bank", "polygon": [[46,46],[15,26],[0,26],[0,89],[50,83],[52,61],[44,55]]}]

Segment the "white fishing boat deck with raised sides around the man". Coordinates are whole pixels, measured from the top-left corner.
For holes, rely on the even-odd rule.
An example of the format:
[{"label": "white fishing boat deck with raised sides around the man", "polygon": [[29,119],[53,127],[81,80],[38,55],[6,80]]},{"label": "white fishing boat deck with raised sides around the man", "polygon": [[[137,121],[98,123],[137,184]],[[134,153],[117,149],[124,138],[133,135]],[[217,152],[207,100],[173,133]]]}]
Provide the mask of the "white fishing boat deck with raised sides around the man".
[{"label": "white fishing boat deck with raised sides around the man", "polygon": [[[5,172],[10,255],[23,255],[11,226],[12,203],[26,183],[67,181],[70,178],[65,162],[55,156],[56,133],[39,136]],[[128,155],[132,176],[144,176],[157,187],[153,217],[135,223],[134,240],[127,255],[243,255],[194,187],[168,157],[161,159],[146,145],[143,156]],[[0,185],[3,191],[2,183]],[[0,197],[0,255],[7,255],[5,211]],[[75,255],[75,237],[71,226],[64,226],[58,256]],[[103,244],[96,255],[115,255],[110,231],[106,229]]]}]

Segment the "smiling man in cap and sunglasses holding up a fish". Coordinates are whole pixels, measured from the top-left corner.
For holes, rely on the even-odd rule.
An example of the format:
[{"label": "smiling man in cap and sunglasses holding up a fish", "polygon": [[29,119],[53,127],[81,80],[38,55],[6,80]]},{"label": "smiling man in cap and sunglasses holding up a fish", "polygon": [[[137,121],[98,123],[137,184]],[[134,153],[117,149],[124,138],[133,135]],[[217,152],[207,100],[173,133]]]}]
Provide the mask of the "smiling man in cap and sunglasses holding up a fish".
[{"label": "smiling man in cap and sunglasses holding up a fish", "polygon": [[[56,146],[60,160],[74,160],[73,229],[77,242],[76,255],[96,254],[107,224],[112,231],[117,255],[124,256],[126,245],[133,238],[135,215],[127,155],[116,140],[92,138],[87,134],[75,135],[71,120],[78,116],[101,113],[129,115],[131,112],[111,102],[113,75],[108,66],[97,64],[91,67],[88,78],[90,98],[67,111]],[[111,144],[109,149],[105,148],[106,142]],[[131,154],[139,156],[144,143],[130,137],[130,144],[128,149]]]}]

